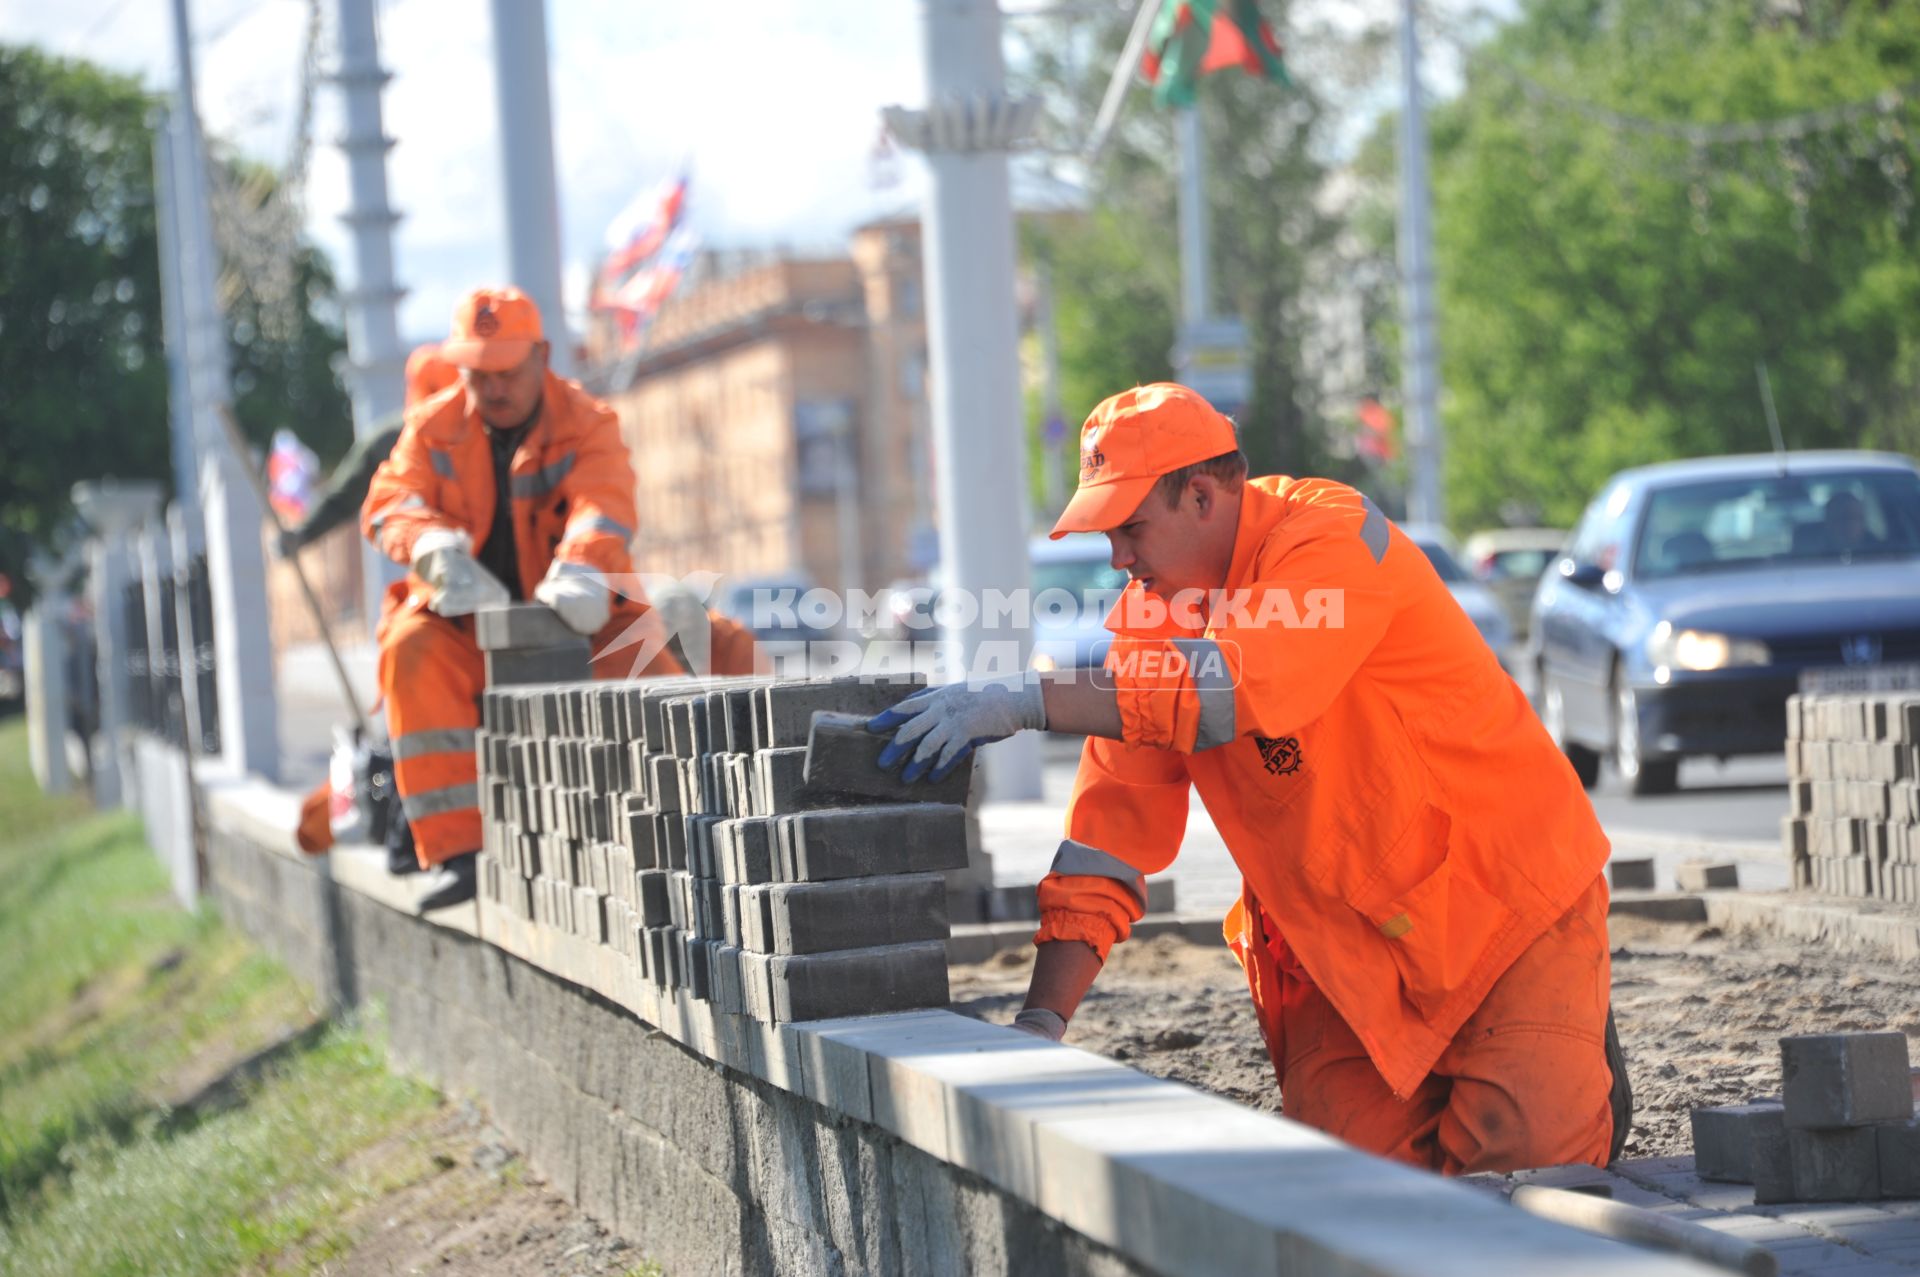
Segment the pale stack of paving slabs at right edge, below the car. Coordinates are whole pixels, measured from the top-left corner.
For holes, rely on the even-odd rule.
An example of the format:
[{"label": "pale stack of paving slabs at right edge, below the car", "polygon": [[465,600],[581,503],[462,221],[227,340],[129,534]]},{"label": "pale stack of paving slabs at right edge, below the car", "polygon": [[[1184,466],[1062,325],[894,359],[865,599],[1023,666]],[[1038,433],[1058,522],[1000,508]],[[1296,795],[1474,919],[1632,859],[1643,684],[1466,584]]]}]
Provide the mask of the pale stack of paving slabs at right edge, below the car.
[{"label": "pale stack of paving slabs at right edge, below the car", "polygon": [[1920,695],[1788,697],[1793,885],[1920,904]]}]

